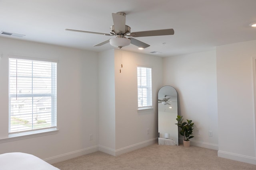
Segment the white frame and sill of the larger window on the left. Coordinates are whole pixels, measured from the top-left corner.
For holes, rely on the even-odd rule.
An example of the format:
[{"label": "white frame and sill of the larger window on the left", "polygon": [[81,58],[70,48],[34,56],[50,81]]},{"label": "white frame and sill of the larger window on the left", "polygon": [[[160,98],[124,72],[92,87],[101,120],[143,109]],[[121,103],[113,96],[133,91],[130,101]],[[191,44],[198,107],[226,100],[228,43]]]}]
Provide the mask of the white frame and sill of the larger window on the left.
[{"label": "white frame and sill of the larger window on the left", "polygon": [[[39,129],[32,129],[32,130],[25,130],[25,131],[17,131],[17,132],[10,132],[10,113],[11,113],[11,106],[10,106],[10,98],[13,97],[13,95],[17,95],[17,97],[23,97],[23,96],[27,96],[27,97],[36,97],[36,96],[40,96],[40,94],[10,94],[10,90],[9,90],[9,138],[15,138],[14,140],[16,140],[16,137],[22,137],[22,139],[26,139],[29,137],[34,137],[34,136],[38,136],[39,133],[41,133],[42,135],[50,135],[50,134],[54,134],[57,133],[58,129],[57,129],[57,61],[54,60],[44,60],[44,59],[35,59],[35,58],[30,58],[30,57],[22,57],[22,56],[16,56],[16,55],[9,55],[9,63],[10,63],[10,59],[17,59],[17,60],[29,60],[29,61],[42,61],[42,62],[50,62],[52,63],[52,93],[51,94],[42,94],[41,96],[51,96],[51,127],[46,127],[46,128],[39,128]],[[53,64],[54,63],[54,64]],[[10,64],[9,64],[9,69],[10,69]],[[53,85],[54,84],[54,85]],[[53,87],[54,86],[54,87]],[[9,75],[9,89],[10,89],[10,75]],[[38,135],[37,135],[38,134]],[[9,140],[7,140],[9,141]]]}]

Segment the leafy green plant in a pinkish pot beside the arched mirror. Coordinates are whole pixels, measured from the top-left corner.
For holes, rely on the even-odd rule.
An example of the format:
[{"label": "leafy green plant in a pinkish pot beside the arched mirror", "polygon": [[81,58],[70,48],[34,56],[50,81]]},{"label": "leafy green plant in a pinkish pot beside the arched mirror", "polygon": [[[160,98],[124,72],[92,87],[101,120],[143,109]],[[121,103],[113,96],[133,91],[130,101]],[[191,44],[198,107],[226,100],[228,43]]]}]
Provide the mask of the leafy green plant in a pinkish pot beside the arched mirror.
[{"label": "leafy green plant in a pinkish pot beside the arched mirror", "polygon": [[178,115],[176,120],[178,123],[175,123],[178,127],[181,128],[180,135],[184,136],[183,145],[184,147],[190,147],[190,141],[189,139],[193,138],[194,136],[191,136],[193,133],[193,126],[194,123],[192,123],[192,120],[188,120],[183,122],[183,116]]}]

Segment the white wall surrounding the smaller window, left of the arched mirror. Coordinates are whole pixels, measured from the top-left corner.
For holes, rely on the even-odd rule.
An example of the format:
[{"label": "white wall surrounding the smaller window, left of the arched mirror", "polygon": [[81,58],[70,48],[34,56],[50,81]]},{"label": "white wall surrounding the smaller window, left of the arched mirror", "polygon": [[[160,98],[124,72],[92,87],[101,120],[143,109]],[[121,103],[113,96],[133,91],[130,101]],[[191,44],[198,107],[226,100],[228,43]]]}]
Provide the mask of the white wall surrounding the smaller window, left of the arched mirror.
[{"label": "white wall surrounding the smaller window, left of the arched mirror", "polygon": [[[132,145],[146,145],[155,142],[158,136],[157,98],[162,86],[162,58],[122,51],[123,68],[120,69],[120,51],[115,50],[115,90],[116,90],[116,150],[122,153]],[[138,112],[137,65],[152,68],[151,111]],[[147,129],[150,133],[147,134]],[[134,147],[136,148],[136,147]]]}]

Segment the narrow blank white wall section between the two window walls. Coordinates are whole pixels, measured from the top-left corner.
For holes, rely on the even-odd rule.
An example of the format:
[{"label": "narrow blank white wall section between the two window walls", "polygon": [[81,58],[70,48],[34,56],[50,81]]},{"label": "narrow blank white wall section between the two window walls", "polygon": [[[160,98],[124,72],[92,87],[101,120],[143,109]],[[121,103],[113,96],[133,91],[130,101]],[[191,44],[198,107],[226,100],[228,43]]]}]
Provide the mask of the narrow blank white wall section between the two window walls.
[{"label": "narrow blank white wall section between the two window walls", "polygon": [[98,88],[99,88],[99,126],[100,150],[111,154],[115,149],[115,76],[114,49],[99,53]]}]

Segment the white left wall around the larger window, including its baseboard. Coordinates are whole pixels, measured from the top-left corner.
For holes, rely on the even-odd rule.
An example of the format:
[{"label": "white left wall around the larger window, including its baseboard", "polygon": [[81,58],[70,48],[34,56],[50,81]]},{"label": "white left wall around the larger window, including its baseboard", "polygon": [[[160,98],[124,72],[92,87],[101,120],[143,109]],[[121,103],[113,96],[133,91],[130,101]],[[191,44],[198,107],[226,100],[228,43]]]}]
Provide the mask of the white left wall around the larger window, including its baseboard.
[{"label": "white left wall around the larger window, including its baseboard", "polygon": [[0,153],[26,152],[53,163],[98,150],[98,54],[2,37],[0,52],[0,139],[8,138],[8,54],[58,60],[59,129],[53,135],[0,140]]}]

